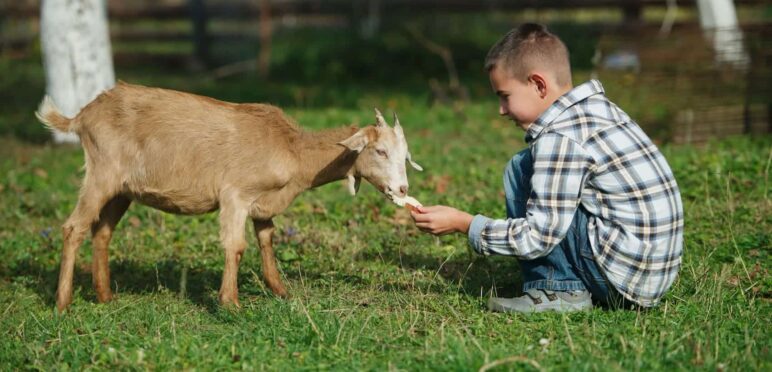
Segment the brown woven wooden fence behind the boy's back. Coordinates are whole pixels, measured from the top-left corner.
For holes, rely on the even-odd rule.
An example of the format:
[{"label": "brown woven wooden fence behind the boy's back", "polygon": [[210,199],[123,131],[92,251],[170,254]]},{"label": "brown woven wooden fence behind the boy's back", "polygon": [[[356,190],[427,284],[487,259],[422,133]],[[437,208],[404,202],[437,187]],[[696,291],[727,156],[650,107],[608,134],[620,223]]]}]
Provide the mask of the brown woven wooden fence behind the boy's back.
[{"label": "brown woven wooden fence behind the boy's back", "polygon": [[[742,31],[745,49],[734,53],[747,54],[744,68],[717,62],[733,58],[717,58],[709,37],[696,24],[678,24],[670,36],[651,27],[609,31],[600,38],[597,48],[604,53],[635,50],[639,66],[639,70],[631,71],[635,80],[654,88],[645,93],[647,100],[658,102],[672,113],[659,119],[666,124],[656,123],[666,126],[666,140],[703,144],[712,138],[772,133],[772,25],[745,25]],[[603,67],[597,69],[603,76]],[[644,113],[655,109],[645,109]],[[641,124],[656,121],[648,119]]]}]

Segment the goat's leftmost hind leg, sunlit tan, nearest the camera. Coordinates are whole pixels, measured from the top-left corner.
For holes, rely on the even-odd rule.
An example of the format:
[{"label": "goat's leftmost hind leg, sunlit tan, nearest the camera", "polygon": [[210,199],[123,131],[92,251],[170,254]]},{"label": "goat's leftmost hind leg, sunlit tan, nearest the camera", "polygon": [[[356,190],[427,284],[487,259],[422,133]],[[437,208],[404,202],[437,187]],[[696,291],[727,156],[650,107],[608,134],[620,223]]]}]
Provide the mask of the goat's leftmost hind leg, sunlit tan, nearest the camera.
[{"label": "goat's leftmost hind leg, sunlit tan, nearest the camera", "polygon": [[62,248],[62,262],[59,267],[59,284],[56,289],[56,308],[60,312],[63,312],[72,303],[72,276],[78,248],[83,243],[92,223],[99,219],[99,211],[109,200],[107,195],[100,192],[100,188],[89,185],[86,181],[75,210],[62,226],[64,246]]}]

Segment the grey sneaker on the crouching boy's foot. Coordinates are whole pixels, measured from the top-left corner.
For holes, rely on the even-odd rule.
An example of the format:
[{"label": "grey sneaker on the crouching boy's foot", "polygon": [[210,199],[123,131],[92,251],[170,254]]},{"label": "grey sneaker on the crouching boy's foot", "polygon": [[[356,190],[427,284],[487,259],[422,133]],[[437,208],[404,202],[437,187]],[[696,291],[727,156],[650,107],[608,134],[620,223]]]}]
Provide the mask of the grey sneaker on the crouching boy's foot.
[{"label": "grey sneaker on the crouching boy's foot", "polygon": [[557,311],[567,313],[592,309],[592,299],[587,291],[550,291],[529,289],[525,295],[515,298],[491,297],[488,309],[501,313],[540,313]]}]

